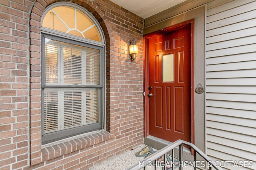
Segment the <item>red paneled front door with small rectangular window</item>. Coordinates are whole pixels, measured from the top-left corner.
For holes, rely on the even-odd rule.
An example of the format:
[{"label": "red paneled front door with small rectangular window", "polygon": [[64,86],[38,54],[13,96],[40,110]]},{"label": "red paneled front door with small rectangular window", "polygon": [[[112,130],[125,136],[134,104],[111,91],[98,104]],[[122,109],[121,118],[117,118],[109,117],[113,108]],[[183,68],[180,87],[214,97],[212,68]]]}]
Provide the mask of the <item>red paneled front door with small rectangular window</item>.
[{"label": "red paneled front door with small rectangular window", "polygon": [[148,40],[149,135],[191,142],[190,27]]}]

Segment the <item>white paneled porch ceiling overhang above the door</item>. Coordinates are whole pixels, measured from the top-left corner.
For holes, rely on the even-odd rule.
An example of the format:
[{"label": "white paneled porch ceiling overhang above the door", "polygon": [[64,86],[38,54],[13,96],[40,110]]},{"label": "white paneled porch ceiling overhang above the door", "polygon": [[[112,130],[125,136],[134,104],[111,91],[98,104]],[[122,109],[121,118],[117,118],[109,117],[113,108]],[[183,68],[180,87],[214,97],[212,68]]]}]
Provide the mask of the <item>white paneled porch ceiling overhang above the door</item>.
[{"label": "white paneled porch ceiling overhang above the door", "polygon": [[110,0],[124,9],[140,16],[148,18],[168,8],[176,6],[186,0]]}]

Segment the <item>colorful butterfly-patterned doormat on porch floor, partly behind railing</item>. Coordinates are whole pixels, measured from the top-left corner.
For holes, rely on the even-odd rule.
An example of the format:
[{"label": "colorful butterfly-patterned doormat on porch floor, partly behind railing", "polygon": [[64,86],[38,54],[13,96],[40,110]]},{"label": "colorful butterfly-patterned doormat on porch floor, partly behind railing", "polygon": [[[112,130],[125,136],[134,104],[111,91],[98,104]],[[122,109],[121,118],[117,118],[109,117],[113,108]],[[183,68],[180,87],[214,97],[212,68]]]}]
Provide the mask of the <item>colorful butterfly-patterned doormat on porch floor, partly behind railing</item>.
[{"label": "colorful butterfly-patterned doormat on porch floor, partly behind railing", "polygon": [[[143,148],[142,150],[140,150],[139,152],[136,152],[135,155],[137,157],[145,156],[145,158],[146,158],[146,157],[154,154],[155,152],[157,152],[157,151],[154,151],[151,147],[147,146],[147,147]],[[172,168],[172,164],[173,164],[172,163],[172,158],[168,154],[166,154],[166,158],[167,158],[167,161],[168,161],[168,163],[166,163],[166,169],[170,169],[170,168]],[[157,161],[156,164],[158,164],[159,166],[163,167],[164,166],[164,155],[162,155],[159,158],[157,158],[156,161]],[[178,166],[179,166],[179,160],[174,158],[174,168],[176,168]]]}]

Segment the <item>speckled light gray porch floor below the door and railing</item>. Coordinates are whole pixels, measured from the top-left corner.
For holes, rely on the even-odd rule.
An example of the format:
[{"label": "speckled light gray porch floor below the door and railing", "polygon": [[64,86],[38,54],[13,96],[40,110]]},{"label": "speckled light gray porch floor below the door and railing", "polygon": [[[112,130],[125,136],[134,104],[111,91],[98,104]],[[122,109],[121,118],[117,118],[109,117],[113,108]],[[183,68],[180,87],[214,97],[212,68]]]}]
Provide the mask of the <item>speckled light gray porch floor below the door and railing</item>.
[{"label": "speckled light gray porch floor below the door and railing", "polygon": [[[89,168],[88,170],[125,170],[126,168],[129,168],[130,166],[132,166],[144,159],[144,157],[137,157],[135,154],[136,154],[136,152],[139,152],[146,146],[147,145],[140,145],[133,150],[129,150],[125,153],[114,156],[114,157],[110,158],[109,160],[106,160],[105,162],[102,162],[92,168]],[[153,148],[153,150],[157,151],[154,148]],[[154,166],[152,166],[152,167],[147,166],[146,169],[154,170]],[[162,168],[160,166],[157,167],[157,169],[162,170]],[[174,170],[178,170],[178,167],[175,168]],[[185,167],[183,167],[183,170],[194,170],[194,167],[185,166]]]}]

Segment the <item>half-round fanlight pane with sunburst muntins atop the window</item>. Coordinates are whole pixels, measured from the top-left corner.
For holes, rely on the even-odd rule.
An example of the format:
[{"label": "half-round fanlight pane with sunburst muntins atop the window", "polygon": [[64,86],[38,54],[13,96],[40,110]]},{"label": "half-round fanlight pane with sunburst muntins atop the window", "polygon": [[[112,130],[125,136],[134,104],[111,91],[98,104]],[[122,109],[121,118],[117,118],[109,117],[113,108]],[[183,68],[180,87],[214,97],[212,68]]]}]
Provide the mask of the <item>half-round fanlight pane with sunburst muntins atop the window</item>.
[{"label": "half-round fanlight pane with sunburst muntins atop the window", "polygon": [[42,26],[102,42],[100,32],[90,17],[73,7],[52,8],[44,16]]}]

